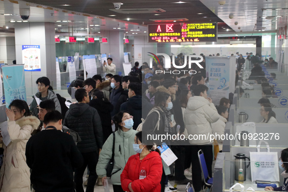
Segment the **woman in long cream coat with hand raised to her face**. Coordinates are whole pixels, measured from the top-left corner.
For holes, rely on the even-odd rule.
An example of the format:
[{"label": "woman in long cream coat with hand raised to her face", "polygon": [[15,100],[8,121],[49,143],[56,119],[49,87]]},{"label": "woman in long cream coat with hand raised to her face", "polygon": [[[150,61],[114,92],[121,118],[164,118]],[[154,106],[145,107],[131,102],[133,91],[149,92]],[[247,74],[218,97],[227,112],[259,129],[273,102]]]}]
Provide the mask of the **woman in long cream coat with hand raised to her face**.
[{"label": "woman in long cream coat with hand raised to her face", "polygon": [[11,142],[4,148],[3,165],[0,171],[0,192],[30,192],[30,169],[26,164],[25,148],[31,133],[40,121],[30,116],[27,103],[14,100],[6,109],[8,134]]}]

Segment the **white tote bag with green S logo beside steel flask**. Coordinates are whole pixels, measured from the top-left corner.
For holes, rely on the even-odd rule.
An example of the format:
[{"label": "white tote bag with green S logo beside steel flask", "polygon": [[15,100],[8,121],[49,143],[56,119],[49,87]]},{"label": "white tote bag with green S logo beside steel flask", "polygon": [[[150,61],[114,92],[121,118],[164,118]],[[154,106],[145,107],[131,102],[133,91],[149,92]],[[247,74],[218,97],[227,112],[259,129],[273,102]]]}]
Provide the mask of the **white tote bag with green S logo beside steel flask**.
[{"label": "white tote bag with green S logo beside steel flask", "polygon": [[[264,142],[267,145],[267,152],[260,152],[260,145]],[[257,152],[250,152],[251,180],[264,180],[279,182],[278,154],[270,152],[269,144],[260,140]]]}]

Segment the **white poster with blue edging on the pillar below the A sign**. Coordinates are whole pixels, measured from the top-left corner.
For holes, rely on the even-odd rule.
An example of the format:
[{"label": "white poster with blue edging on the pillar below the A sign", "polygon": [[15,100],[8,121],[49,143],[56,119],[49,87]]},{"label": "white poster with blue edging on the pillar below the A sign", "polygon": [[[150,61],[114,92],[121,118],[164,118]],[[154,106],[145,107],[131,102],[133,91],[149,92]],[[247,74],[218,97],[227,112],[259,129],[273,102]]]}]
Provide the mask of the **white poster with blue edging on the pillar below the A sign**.
[{"label": "white poster with blue edging on the pillar below the A sign", "polygon": [[40,45],[22,45],[22,63],[25,71],[41,71]]}]

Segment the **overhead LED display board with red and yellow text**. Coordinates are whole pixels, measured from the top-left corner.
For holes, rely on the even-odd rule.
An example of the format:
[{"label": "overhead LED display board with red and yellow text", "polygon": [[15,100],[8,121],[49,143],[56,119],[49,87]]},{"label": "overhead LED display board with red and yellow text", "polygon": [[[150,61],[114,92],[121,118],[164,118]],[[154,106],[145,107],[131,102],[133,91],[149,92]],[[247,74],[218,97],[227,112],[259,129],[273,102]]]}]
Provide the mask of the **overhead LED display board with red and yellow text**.
[{"label": "overhead LED display board with red and yellow text", "polygon": [[217,23],[148,25],[148,42],[215,42]]}]

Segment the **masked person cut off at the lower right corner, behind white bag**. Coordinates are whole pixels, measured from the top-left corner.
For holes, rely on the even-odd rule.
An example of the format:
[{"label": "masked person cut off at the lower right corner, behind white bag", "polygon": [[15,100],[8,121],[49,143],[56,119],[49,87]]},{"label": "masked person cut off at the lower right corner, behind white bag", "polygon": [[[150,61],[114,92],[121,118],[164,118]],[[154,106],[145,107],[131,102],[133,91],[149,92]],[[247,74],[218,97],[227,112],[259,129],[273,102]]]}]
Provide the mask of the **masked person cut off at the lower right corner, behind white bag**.
[{"label": "masked person cut off at the lower right corner, behind white bag", "polygon": [[281,152],[281,157],[279,158],[279,168],[283,171],[281,175],[284,177],[284,183],[281,187],[266,187],[265,191],[275,191],[275,192],[288,192],[288,148]]}]

